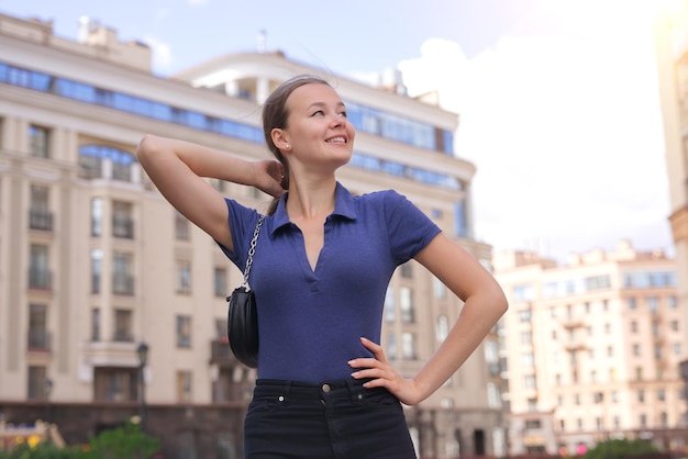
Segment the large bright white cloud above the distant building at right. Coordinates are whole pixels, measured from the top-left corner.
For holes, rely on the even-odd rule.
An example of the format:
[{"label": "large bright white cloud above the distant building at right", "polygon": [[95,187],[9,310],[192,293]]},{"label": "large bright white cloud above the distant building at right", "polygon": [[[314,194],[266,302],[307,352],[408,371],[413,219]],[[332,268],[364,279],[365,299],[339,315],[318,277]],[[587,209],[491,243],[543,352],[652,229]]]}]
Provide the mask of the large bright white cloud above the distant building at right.
[{"label": "large bright white cloud above the distant building at right", "polygon": [[[585,14],[570,18],[585,30]],[[670,250],[648,31],[602,23],[585,35],[504,37],[474,59],[430,40],[399,65],[411,94],[440,89],[459,113],[456,154],[477,167],[476,233],[497,251],[563,259],[622,238]]]}]

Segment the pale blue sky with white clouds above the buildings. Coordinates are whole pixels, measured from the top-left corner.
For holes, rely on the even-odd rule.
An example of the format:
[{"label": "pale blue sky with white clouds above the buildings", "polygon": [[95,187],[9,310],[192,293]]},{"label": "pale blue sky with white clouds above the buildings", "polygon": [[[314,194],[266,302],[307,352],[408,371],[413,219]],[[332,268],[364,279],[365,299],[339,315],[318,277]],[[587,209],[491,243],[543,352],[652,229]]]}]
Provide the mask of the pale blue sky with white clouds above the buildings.
[{"label": "pale blue sky with white clouds above the buildings", "polygon": [[153,49],[166,77],[214,57],[267,51],[370,80],[398,68],[410,96],[437,89],[457,113],[456,155],[476,165],[475,236],[496,253],[674,255],[656,65],[654,0],[0,0],[0,13],[79,18]]}]

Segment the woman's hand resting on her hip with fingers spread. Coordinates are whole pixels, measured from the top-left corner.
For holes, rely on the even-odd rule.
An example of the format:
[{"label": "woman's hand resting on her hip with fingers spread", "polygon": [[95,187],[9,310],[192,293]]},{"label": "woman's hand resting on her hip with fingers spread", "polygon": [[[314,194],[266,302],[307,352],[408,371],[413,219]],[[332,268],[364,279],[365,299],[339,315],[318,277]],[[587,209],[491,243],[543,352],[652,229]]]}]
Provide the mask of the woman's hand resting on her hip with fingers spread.
[{"label": "woman's hand resting on her hip with fingers spread", "polygon": [[352,373],[354,379],[370,380],[363,384],[364,388],[386,388],[406,405],[415,405],[424,399],[415,380],[402,378],[389,365],[380,345],[364,337],[360,338],[360,343],[375,358],[353,359],[348,361],[348,366],[356,370]]}]

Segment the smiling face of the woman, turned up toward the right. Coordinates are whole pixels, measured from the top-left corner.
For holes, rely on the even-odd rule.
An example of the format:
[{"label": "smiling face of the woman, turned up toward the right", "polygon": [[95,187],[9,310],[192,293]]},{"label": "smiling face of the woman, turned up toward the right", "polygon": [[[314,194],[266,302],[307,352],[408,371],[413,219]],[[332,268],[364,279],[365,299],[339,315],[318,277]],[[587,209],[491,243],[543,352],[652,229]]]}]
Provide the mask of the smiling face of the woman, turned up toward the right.
[{"label": "smiling face of the woman, turned up toward the right", "polygon": [[348,163],[354,147],[354,126],[346,108],[328,85],[308,83],[287,99],[287,128],[282,130],[291,155],[309,165],[340,167]]}]

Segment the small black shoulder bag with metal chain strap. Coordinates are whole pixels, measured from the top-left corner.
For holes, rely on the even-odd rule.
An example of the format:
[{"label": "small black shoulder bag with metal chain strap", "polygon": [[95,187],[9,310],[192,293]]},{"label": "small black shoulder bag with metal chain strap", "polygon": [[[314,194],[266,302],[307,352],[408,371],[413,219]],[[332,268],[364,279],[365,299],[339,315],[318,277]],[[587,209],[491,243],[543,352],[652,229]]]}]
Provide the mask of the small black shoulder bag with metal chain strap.
[{"label": "small black shoulder bag with metal chain strap", "polygon": [[248,287],[248,275],[264,220],[265,215],[260,215],[253,232],[248,258],[244,268],[244,280],[234,289],[232,295],[226,298],[230,303],[226,325],[230,348],[236,359],[249,368],[258,366],[258,312],[256,311],[255,294]]}]

